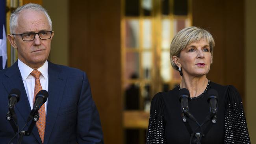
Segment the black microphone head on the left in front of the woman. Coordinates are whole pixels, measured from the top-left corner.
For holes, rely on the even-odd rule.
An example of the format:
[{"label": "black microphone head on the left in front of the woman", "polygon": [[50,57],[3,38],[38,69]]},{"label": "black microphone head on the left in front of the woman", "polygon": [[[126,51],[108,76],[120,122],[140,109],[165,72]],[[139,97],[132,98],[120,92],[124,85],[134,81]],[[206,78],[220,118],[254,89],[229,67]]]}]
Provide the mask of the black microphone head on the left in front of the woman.
[{"label": "black microphone head on the left in front of the woman", "polygon": [[179,100],[181,104],[181,111],[182,112],[188,111],[188,101],[190,98],[189,91],[185,88],[181,89],[179,92],[179,96],[180,96]]}]

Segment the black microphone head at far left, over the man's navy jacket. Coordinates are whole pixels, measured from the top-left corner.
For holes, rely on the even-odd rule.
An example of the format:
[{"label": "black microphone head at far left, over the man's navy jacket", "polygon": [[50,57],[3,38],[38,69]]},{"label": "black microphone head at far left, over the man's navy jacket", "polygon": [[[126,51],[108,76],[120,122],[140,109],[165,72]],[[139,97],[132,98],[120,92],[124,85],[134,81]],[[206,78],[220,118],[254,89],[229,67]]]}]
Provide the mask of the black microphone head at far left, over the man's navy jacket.
[{"label": "black microphone head at far left, over the man's navy jacket", "polygon": [[9,99],[8,108],[12,113],[12,110],[14,109],[15,104],[20,100],[20,90],[12,89],[8,95],[8,99]]}]

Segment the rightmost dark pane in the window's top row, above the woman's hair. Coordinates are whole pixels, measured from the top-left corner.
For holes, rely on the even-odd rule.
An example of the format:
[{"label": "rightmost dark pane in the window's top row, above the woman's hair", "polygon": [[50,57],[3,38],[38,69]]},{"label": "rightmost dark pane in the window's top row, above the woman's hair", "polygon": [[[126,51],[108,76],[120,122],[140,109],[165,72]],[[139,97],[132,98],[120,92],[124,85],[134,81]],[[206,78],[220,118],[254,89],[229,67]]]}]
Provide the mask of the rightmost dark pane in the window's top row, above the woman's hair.
[{"label": "rightmost dark pane in the window's top row, above the woman's hair", "polygon": [[187,15],[187,0],[174,0],[174,15]]}]

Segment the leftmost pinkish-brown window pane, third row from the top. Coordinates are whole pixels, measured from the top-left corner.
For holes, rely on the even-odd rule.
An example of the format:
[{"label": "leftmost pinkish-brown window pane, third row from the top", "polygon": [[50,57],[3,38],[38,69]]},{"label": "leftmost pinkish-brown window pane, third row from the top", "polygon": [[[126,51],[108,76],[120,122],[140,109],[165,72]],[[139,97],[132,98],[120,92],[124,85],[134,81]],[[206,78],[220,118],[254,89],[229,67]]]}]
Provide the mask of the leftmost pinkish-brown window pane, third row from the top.
[{"label": "leftmost pinkish-brown window pane, third row from the top", "polygon": [[139,54],[136,52],[126,53],[125,78],[139,78]]}]

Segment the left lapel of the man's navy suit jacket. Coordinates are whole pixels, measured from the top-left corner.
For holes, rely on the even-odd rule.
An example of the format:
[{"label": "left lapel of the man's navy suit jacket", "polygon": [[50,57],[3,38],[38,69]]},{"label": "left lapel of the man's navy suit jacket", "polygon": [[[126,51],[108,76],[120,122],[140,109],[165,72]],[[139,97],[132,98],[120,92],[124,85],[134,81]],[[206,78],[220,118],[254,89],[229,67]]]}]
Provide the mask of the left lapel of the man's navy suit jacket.
[{"label": "left lapel of the man's navy suit jacket", "polygon": [[[8,80],[3,82],[3,84],[7,92],[11,91],[11,89],[13,88],[17,88],[20,90],[20,101],[15,105],[15,112],[20,113],[24,122],[26,122],[31,108],[28,102],[28,96],[24,87],[24,83],[22,81],[17,61],[7,70],[5,75],[7,76]],[[27,126],[30,126],[30,122],[27,124]],[[27,129],[28,127],[25,127],[25,130]],[[41,138],[39,137],[36,126],[33,128],[32,133],[37,141],[41,144]]]}]

